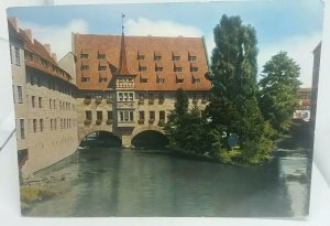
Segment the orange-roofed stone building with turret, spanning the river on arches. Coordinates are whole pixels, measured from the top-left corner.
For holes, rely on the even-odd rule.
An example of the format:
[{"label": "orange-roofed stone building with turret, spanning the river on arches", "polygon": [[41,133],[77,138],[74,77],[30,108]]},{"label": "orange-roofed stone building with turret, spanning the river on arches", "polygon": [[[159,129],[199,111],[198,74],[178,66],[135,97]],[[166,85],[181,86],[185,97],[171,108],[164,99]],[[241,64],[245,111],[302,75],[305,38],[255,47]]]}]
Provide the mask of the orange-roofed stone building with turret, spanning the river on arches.
[{"label": "orange-roofed stone building with turret, spanning the river on arches", "polygon": [[162,132],[183,88],[190,107],[207,104],[202,37],[74,34],[78,136],[106,130],[123,147],[144,130]]}]

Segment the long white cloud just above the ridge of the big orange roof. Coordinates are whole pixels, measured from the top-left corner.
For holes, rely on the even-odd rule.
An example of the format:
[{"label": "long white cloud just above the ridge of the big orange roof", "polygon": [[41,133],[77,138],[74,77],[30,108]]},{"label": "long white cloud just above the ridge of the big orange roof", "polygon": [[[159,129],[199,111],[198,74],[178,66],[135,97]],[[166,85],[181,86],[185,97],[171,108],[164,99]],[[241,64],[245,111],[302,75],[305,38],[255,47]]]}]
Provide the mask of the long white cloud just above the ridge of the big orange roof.
[{"label": "long white cloud just above the ridge of the big orange roof", "polygon": [[125,33],[129,35],[153,36],[201,36],[202,32],[195,26],[179,24],[173,21],[151,21],[139,18],[136,21],[128,20]]}]

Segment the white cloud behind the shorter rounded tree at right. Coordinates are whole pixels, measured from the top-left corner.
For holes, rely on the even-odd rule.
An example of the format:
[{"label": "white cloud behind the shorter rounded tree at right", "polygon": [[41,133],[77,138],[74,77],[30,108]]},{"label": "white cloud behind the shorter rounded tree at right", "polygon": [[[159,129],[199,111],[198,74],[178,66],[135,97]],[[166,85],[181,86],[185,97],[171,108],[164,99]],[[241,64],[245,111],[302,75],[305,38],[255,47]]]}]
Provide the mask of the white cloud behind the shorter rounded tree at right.
[{"label": "white cloud behind the shorter rounded tree at right", "polygon": [[312,78],[312,51],[321,41],[321,34],[315,33],[310,35],[292,36],[284,40],[279,40],[272,45],[260,46],[260,53],[257,57],[260,72],[263,69],[263,65],[271,60],[271,57],[277,54],[279,51],[285,51],[288,56],[292,57],[300,66],[300,82],[301,87],[311,87]]}]

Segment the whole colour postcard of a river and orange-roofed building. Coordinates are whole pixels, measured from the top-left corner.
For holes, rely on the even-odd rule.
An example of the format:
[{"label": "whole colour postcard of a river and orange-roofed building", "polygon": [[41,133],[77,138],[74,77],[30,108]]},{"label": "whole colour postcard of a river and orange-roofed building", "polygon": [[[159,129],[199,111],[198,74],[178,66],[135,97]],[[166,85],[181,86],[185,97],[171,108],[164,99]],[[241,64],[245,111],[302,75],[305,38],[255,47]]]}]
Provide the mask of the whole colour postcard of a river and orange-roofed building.
[{"label": "whole colour postcard of a river and orange-roofed building", "polygon": [[24,216],[305,217],[321,1],[8,9]]}]

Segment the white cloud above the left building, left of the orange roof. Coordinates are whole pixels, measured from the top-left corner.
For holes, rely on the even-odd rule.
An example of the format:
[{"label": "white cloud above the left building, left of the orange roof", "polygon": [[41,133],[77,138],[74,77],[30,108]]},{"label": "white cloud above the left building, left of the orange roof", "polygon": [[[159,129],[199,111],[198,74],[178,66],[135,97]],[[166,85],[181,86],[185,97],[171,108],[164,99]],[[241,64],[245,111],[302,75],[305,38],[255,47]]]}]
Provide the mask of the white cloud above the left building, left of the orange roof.
[{"label": "white cloud above the left building, left of the orange roof", "polygon": [[88,23],[85,20],[72,20],[64,25],[40,25],[22,21],[20,26],[31,29],[33,37],[42,44],[51,44],[57,60],[72,51],[72,32],[88,33]]}]

